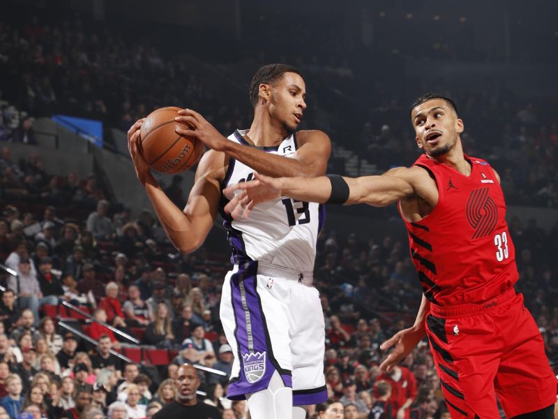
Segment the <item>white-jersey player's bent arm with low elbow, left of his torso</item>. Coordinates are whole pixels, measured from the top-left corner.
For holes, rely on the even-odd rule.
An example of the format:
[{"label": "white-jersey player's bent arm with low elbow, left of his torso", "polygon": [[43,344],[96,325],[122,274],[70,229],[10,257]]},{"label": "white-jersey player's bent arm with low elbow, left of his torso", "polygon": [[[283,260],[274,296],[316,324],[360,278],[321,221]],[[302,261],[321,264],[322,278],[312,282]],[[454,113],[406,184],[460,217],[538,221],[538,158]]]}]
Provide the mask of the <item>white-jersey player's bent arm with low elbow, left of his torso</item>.
[{"label": "white-jersey player's bent arm with low elbow, left of his torso", "polygon": [[141,123],[142,120],[136,122],[128,131],[128,149],[137,178],[144,186],[169,240],[181,253],[190,253],[201,246],[216,219],[220,200],[219,179],[225,170],[225,156],[216,152],[207,152],[202,156],[188,203],[181,210],[160,188],[140,153]]}]

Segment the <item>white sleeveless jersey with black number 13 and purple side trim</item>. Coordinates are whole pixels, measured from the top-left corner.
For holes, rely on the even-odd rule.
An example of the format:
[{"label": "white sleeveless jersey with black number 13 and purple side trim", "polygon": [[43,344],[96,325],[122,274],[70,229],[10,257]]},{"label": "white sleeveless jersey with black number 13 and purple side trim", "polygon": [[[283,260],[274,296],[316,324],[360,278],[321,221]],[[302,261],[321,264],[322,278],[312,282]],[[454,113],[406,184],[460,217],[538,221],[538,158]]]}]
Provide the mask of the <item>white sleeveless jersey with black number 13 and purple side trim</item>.
[{"label": "white sleeveless jersey with black number 13 and purple side trim", "polygon": [[[243,138],[246,131],[234,131],[229,140],[249,145]],[[251,146],[255,147],[255,146]],[[289,135],[278,147],[257,147],[280,156],[293,156],[296,151],[295,134]],[[254,170],[238,160],[230,159],[222,189],[252,179]],[[316,242],[324,224],[324,206],[282,197],[256,205],[248,219],[232,220],[223,212],[227,204],[223,196],[220,205],[227,238],[232,246],[232,262],[250,260],[287,267],[299,272],[312,272],[316,256]]]}]

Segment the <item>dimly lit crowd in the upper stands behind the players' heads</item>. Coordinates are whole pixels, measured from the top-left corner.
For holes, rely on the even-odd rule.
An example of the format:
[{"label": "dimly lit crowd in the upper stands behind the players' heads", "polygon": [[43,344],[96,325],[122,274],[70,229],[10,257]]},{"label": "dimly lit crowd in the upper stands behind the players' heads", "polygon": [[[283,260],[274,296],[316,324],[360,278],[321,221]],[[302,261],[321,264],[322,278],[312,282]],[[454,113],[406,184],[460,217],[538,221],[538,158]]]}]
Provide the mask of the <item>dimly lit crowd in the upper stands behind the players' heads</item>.
[{"label": "dimly lit crowd in the upper stands behind the players' heads", "polygon": [[[99,119],[127,131],[135,120],[169,104],[199,110],[225,135],[248,126],[245,91],[231,83],[230,97],[220,100],[223,94],[213,86],[212,75],[204,76],[186,55],[169,54],[164,43],[131,39],[110,22],[103,26],[86,17],[44,19],[0,21],[0,78],[6,80],[1,95],[12,103],[5,103],[0,115],[0,141],[33,143],[32,117],[56,113]],[[359,78],[345,59],[331,62],[319,51],[307,59],[269,54],[259,60],[290,60],[308,75],[310,106],[301,128],[326,131],[334,143],[353,149],[378,172],[416,159],[407,109],[412,98],[405,95],[405,80],[386,80],[384,85]],[[252,64],[257,68],[262,63]],[[226,72],[227,66],[222,68]],[[232,73],[228,77],[235,78]],[[236,82],[247,85],[248,80]],[[342,100],[339,91],[347,98]],[[466,152],[488,159],[499,170],[508,203],[558,206],[555,101],[517,96],[495,84],[487,84],[482,93],[446,84],[442,92],[455,99],[465,118]],[[345,169],[334,157],[330,170]]]}]

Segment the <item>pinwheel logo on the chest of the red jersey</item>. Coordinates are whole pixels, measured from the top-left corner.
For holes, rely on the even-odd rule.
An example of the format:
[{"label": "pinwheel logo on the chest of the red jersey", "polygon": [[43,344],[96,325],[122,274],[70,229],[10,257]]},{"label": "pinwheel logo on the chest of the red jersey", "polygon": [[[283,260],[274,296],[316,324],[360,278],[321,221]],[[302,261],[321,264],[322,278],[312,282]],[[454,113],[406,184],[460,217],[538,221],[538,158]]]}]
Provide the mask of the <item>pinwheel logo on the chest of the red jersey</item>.
[{"label": "pinwheel logo on the chest of the red jersey", "polygon": [[467,221],[475,229],[472,239],[486,237],[496,227],[498,208],[488,191],[488,188],[475,189],[467,200]]}]

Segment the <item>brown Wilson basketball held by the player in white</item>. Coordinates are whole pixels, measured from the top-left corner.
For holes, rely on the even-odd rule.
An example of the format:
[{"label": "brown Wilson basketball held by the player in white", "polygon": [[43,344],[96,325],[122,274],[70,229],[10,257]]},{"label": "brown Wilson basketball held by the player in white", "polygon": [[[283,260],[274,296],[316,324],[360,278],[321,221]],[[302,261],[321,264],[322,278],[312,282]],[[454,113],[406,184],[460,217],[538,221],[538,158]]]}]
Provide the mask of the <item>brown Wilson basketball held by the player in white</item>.
[{"label": "brown Wilson basketball held by the player in white", "polygon": [[181,108],[168,106],[147,115],[142,124],[142,156],[149,167],[162,173],[188,170],[204,154],[204,144],[197,138],[183,137],[174,129],[182,125],[174,121]]}]

